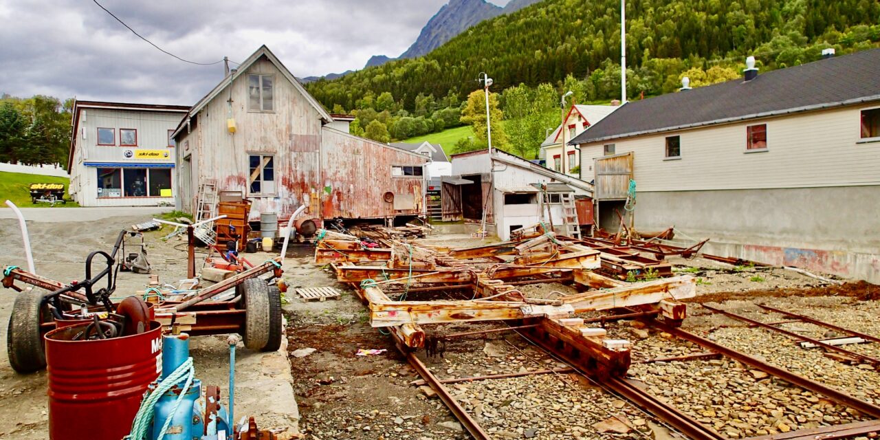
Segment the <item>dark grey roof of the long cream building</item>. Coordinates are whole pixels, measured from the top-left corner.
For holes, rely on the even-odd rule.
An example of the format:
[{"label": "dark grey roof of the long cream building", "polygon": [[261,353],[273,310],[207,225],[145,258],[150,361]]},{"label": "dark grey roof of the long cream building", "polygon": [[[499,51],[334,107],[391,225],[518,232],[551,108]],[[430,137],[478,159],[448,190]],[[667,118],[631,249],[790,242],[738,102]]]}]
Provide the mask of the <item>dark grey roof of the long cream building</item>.
[{"label": "dark grey roof of the long cream building", "polygon": [[880,100],[880,49],[629,101],[570,144]]}]

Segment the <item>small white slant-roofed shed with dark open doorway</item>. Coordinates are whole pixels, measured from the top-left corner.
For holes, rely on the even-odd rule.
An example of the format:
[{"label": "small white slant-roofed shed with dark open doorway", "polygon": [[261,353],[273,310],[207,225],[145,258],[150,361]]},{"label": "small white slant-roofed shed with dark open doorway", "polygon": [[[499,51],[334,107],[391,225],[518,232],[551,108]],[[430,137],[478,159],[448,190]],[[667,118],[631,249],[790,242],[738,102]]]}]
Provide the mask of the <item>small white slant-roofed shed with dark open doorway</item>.
[{"label": "small white slant-roofed shed with dark open doorway", "polygon": [[[563,194],[592,196],[589,183],[502,150],[469,151],[451,158],[452,175],[443,179],[444,220],[481,224],[485,214],[487,232],[503,240],[510,238],[510,231],[549,222],[549,217],[559,227]],[[542,209],[539,184],[546,184],[549,216]]]}]

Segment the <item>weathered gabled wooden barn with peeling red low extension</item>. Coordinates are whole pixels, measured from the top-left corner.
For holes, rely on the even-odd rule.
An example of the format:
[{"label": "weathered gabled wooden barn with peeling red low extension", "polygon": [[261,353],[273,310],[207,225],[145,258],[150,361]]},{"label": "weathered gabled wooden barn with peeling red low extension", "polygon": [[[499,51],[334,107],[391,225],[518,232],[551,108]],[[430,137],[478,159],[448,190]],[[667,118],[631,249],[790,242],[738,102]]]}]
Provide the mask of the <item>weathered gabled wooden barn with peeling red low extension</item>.
[{"label": "weathered gabled wooden barn with peeling red low extension", "polygon": [[[239,191],[261,213],[299,220],[424,213],[425,156],[352,136],[263,46],[190,108],[174,132],[178,208],[194,212],[200,185]],[[335,127],[335,128],[334,128]]]}]

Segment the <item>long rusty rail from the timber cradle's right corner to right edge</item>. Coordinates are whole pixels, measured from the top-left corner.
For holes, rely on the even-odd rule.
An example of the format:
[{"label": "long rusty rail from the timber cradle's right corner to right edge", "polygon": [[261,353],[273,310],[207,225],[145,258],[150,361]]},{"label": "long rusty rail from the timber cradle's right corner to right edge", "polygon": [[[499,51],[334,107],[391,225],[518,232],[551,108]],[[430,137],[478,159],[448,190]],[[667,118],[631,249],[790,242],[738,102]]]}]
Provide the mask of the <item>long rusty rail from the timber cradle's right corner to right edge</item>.
[{"label": "long rusty rail from the timber cradle's right corner to right edge", "polygon": [[709,341],[706,338],[703,338],[697,334],[687,332],[678,327],[669,326],[657,320],[650,320],[649,325],[663,330],[664,332],[678,337],[679,339],[691,341],[703,348],[708,348],[712,351],[721,353],[724,356],[736,359],[740,363],[749,365],[756,370],[764,371],[767,374],[773,375],[777,378],[781,378],[785,381],[790,382],[791,384],[810,390],[811,392],[822,394],[825,397],[840,403],[841,405],[852,407],[854,409],[862,411],[862,413],[864,414],[869,414],[871,417],[880,418],[880,407],[850,396],[846,392],[840,392],[840,390],[820,384],[814,380],[810,380],[809,378],[804,378],[803,376],[800,376],[789,370],[785,370],[775,365],[765,363],[764,361],[761,361],[756,357],[752,357],[741,353],[733,348],[728,348],[721,344],[717,344],[714,341]]}]

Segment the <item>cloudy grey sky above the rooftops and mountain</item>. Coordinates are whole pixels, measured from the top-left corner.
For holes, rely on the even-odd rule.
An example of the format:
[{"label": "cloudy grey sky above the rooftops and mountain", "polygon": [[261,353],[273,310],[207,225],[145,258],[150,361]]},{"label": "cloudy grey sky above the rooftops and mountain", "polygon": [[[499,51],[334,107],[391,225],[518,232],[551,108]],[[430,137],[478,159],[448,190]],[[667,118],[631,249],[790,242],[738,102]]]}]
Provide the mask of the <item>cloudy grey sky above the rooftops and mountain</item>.
[{"label": "cloudy grey sky above the rooftops and mountain", "polygon": [[[400,55],[447,0],[98,1],[181,58],[242,62],[266,44],[308,77]],[[191,106],[224,76],[222,62],[159,52],[92,0],[0,0],[0,23],[0,94]]]}]

